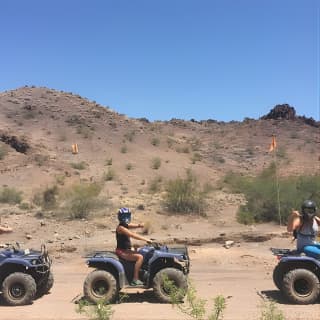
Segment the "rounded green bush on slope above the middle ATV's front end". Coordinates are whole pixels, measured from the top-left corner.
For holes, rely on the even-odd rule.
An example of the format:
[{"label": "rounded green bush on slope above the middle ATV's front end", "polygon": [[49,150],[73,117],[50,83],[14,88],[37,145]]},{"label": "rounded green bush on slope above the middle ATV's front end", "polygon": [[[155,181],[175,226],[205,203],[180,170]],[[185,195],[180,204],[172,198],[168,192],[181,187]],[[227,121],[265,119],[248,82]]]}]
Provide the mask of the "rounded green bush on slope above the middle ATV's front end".
[{"label": "rounded green bush on slope above the middle ATV's front end", "polygon": [[163,204],[171,212],[203,214],[207,194],[208,190],[200,186],[197,177],[187,170],[185,178],[168,181]]}]

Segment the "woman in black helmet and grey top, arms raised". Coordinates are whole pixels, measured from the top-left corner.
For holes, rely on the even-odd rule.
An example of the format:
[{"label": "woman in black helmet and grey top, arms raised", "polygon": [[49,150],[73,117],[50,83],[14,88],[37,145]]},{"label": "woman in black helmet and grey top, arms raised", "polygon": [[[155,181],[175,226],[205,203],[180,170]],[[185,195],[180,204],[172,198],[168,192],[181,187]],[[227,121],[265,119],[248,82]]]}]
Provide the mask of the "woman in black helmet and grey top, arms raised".
[{"label": "woman in black helmet and grey top, arms raised", "polygon": [[320,259],[320,243],[316,241],[320,226],[320,218],[316,216],[317,207],[314,201],[302,203],[301,213],[293,210],[287,230],[297,238],[297,250],[307,256]]}]

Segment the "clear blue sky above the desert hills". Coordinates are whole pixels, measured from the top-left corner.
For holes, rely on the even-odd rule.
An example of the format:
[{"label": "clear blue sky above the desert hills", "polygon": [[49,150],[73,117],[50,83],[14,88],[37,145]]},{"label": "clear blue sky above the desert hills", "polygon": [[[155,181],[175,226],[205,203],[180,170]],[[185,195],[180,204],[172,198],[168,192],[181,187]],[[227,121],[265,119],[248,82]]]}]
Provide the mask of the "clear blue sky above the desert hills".
[{"label": "clear blue sky above the desert hills", "polygon": [[319,120],[320,0],[2,0],[0,91],[80,94],[130,117]]}]

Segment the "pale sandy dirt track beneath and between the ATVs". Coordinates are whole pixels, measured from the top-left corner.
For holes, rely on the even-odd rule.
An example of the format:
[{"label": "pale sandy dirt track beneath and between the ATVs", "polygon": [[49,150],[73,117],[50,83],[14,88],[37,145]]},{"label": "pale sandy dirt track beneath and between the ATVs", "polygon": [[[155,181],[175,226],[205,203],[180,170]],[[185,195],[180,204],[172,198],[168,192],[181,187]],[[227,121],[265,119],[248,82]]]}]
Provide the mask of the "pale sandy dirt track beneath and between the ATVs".
[{"label": "pale sandy dirt track beneath and between the ATVs", "polygon": [[[272,282],[275,258],[268,248],[281,244],[281,239],[265,243],[240,243],[230,249],[212,244],[190,247],[192,260],[190,279],[199,297],[211,300],[218,294],[227,298],[225,320],[257,320],[261,315],[263,296],[274,299],[287,320],[319,319],[320,304],[297,306],[287,304]],[[286,240],[285,240],[286,241]],[[0,306],[2,320],[80,320],[74,298],[82,293],[82,283],[89,272],[84,260],[74,254],[62,257],[53,267],[55,284],[51,294],[23,307]],[[157,303],[152,291],[126,290],[126,302],[113,305],[113,319],[173,320],[187,319],[170,305]]]}]

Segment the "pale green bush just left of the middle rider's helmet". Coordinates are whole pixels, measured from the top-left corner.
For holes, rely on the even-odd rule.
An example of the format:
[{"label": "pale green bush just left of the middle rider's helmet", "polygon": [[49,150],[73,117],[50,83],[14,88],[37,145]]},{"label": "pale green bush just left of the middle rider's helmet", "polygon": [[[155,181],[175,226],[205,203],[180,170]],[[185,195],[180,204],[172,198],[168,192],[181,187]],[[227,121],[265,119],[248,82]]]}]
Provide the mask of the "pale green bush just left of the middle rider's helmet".
[{"label": "pale green bush just left of the middle rider's helmet", "polygon": [[102,186],[98,183],[77,184],[66,192],[64,211],[71,219],[87,218],[101,203],[98,196]]}]

